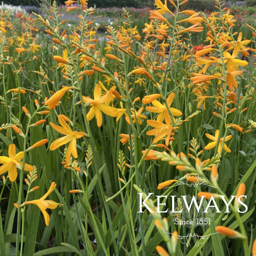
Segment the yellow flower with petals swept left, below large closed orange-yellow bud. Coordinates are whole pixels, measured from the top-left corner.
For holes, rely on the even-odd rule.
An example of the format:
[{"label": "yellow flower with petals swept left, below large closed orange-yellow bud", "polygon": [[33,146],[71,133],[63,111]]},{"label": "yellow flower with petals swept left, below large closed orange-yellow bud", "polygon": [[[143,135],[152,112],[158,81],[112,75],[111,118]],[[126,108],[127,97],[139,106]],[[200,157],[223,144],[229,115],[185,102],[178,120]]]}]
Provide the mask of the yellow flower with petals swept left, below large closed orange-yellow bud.
[{"label": "yellow flower with petals swept left, below large closed orange-yellow bud", "polygon": [[69,142],[66,159],[67,161],[70,160],[71,153],[75,158],[77,158],[78,155],[77,155],[77,149],[76,149],[76,139],[79,139],[85,136],[86,134],[84,132],[76,132],[76,131],[73,132],[72,129],[64,120],[63,115],[58,116],[58,121],[61,126],[53,124],[51,122],[50,122],[50,125],[54,130],[66,136],[61,137],[57,140],[54,140],[50,146],[50,150],[55,150],[56,148],[59,148],[60,146],[65,145]]}]

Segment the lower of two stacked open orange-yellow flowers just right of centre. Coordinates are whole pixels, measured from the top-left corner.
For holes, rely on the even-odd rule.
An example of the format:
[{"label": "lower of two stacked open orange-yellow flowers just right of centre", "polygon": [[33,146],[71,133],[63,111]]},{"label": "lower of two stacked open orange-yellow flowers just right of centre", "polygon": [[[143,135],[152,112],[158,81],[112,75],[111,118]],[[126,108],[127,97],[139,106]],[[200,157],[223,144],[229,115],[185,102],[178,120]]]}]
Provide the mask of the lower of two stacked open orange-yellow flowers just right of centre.
[{"label": "lower of two stacked open orange-yellow flowers just right of centre", "polygon": [[146,132],[147,135],[156,136],[153,143],[156,143],[165,137],[165,145],[168,146],[171,136],[174,135],[172,131],[175,130],[175,128],[172,127],[171,122],[167,121],[166,124],[163,124],[162,122],[157,122],[155,120],[148,120],[147,124],[155,128]]}]

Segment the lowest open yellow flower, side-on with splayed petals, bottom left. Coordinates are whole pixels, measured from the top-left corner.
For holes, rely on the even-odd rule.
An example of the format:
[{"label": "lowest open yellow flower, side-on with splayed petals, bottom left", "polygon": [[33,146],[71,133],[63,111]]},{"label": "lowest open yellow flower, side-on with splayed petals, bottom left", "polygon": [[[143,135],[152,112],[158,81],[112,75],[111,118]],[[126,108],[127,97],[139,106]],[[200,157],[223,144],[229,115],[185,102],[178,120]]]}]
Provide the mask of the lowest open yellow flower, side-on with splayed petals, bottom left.
[{"label": "lowest open yellow flower, side-on with splayed petals, bottom left", "polygon": [[49,225],[49,221],[50,221],[50,216],[49,214],[46,212],[46,209],[55,209],[57,208],[58,205],[62,206],[63,204],[58,204],[52,200],[45,200],[47,196],[49,196],[52,191],[56,188],[56,183],[52,182],[51,187],[49,188],[49,190],[44,194],[44,196],[42,196],[40,199],[37,200],[33,200],[33,201],[27,201],[23,204],[21,204],[20,206],[23,207],[27,204],[36,204],[38,206],[38,208],[41,210],[41,212],[44,214],[44,220],[45,220],[45,225],[48,226]]}]

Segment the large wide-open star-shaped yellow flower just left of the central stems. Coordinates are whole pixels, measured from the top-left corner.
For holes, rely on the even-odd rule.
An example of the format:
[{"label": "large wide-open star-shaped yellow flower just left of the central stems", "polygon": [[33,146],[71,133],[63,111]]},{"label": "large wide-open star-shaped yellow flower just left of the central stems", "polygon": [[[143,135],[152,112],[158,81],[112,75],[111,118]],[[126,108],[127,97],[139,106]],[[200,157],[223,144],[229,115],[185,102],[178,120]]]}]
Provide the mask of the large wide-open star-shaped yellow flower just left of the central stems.
[{"label": "large wide-open star-shaped yellow flower just left of the central stems", "polygon": [[91,106],[86,115],[88,121],[92,120],[92,118],[95,116],[97,119],[97,125],[100,127],[102,125],[101,111],[112,117],[116,117],[118,115],[116,108],[105,104],[107,101],[109,102],[110,98],[112,99],[112,91],[113,89],[111,88],[104,96],[102,96],[100,84],[96,84],[94,88],[94,99],[83,96],[84,103]]}]

